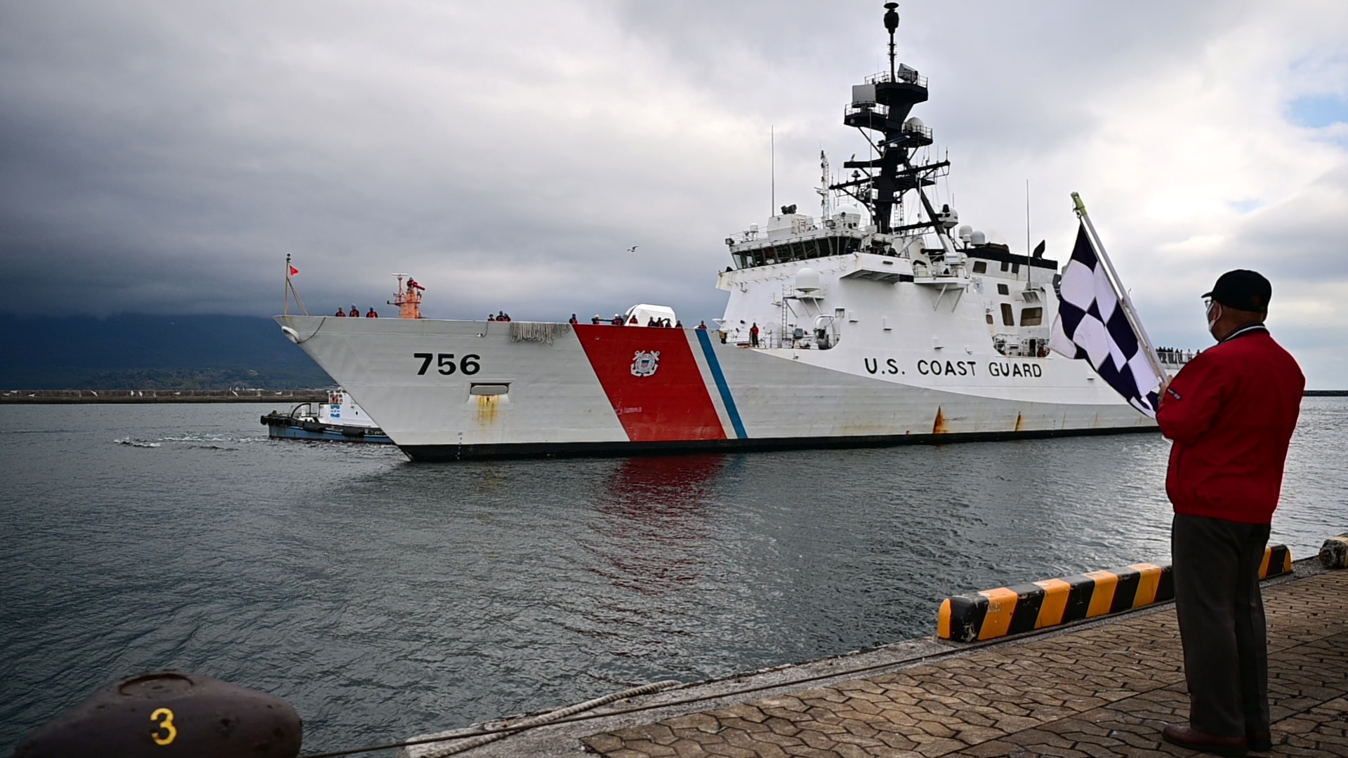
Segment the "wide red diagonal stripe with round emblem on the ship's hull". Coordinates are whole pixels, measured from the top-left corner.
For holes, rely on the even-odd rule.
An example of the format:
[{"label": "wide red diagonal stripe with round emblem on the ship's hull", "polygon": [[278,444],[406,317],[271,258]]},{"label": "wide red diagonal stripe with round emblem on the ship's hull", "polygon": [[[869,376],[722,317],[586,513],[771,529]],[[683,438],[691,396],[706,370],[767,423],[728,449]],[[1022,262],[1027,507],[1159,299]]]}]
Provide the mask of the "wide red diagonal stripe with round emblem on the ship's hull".
[{"label": "wide red diagonal stripe with round emblem on the ship's hull", "polygon": [[[683,329],[577,324],[576,336],[631,441],[725,438]],[[655,352],[655,371],[638,375],[650,371],[634,370],[638,353]]]}]

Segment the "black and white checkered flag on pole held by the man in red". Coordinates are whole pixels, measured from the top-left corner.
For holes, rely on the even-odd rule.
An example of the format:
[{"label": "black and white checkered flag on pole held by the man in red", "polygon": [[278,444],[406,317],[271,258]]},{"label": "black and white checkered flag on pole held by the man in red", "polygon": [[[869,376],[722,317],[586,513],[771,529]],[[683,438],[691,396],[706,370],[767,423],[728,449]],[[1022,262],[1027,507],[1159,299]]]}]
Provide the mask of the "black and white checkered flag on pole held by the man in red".
[{"label": "black and white checkered flag on pole held by the man in red", "polygon": [[1072,193],[1072,200],[1080,218],[1077,243],[1062,268],[1058,317],[1053,321],[1049,348],[1088,361],[1128,405],[1155,418],[1161,382],[1166,378],[1161,357],[1099,244],[1081,196]]}]

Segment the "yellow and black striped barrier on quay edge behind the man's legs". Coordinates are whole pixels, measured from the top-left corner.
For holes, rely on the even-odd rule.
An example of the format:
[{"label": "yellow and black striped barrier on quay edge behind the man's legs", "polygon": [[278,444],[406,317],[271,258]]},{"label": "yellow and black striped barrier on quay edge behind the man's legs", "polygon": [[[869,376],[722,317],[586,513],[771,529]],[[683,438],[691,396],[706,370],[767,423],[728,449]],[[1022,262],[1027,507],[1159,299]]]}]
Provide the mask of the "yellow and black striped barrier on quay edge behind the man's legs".
[{"label": "yellow and black striped barrier on quay edge behind the man's legs", "polygon": [[[1291,552],[1271,545],[1259,565],[1259,579],[1291,573]],[[956,595],[941,602],[937,637],[957,642],[993,639],[1081,619],[1174,600],[1169,565],[1132,564]]]}]

